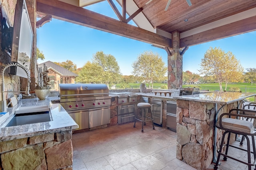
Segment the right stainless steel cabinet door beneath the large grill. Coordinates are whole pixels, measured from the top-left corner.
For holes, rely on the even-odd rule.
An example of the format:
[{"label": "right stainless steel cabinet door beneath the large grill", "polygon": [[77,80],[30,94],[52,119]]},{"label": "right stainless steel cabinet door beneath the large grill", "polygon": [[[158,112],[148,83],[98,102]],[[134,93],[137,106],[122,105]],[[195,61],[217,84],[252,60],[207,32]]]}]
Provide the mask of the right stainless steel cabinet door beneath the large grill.
[{"label": "right stainless steel cabinet door beneath the large grill", "polygon": [[110,123],[110,106],[89,109],[89,128]]}]

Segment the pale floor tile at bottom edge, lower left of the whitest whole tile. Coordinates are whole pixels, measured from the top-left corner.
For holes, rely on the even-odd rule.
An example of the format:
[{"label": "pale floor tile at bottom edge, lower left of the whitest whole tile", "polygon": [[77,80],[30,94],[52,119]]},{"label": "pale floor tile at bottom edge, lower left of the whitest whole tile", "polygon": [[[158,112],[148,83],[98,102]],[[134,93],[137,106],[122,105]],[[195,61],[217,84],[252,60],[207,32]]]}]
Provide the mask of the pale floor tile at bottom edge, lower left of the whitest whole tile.
[{"label": "pale floor tile at bottom edge, lower left of the whitest whole tile", "polygon": [[98,158],[85,163],[88,170],[114,170],[105,158]]}]

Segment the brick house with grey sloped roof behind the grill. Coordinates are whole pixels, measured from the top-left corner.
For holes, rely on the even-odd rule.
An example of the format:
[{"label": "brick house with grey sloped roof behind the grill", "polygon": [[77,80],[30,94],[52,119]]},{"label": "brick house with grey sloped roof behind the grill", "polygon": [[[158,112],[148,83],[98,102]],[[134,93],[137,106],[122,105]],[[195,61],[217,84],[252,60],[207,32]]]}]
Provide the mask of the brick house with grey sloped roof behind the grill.
[{"label": "brick house with grey sloped roof behind the grill", "polygon": [[44,63],[38,64],[38,67],[44,67],[44,64],[47,67],[47,70],[49,71],[48,76],[50,78],[50,84],[52,87],[52,90],[59,90],[58,84],[64,83],[64,84],[74,84],[75,78],[78,76],[74,72],[71,72],[70,70],[67,70],[66,68],[63,68],[62,66],[59,66],[51,61],[46,61]]}]

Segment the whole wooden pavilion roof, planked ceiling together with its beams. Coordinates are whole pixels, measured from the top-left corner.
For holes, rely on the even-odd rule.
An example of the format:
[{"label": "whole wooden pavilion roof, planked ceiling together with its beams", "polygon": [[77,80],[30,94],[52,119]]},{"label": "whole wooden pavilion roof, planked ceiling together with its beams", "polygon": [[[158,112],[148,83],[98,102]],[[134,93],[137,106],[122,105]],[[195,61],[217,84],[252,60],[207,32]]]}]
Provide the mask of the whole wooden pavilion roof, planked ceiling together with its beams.
[{"label": "whole wooden pavilion roof, planked ceiling together with its beams", "polygon": [[[192,6],[186,0],[172,0],[166,11],[168,0],[117,0],[121,6],[125,2],[122,12],[134,14],[132,19],[137,25],[145,18],[152,26],[149,29],[130,25],[125,22],[127,18],[118,21],[82,8],[102,0],[36,1],[40,16],[51,15],[159,47],[172,47],[173,31],[180,32],[180,47],[186,47],[256,30],[256,0],[190,0]],[[110,5],[112,1],[108,0]],[[118,18],[122,19],[122,12],[116,13]],[[159,35],[157,30],[164,34]]]}]

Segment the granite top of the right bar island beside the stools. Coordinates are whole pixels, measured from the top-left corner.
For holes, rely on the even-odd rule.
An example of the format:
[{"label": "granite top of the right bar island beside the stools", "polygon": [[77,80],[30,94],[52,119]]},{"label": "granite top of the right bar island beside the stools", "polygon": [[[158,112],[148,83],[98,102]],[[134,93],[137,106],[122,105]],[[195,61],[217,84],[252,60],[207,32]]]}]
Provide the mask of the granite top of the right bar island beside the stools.
[{"label": "granite top of the right bar island beside the stools", "polygon": [[212,92],[204,94],[194,94],[188,96],[174,96],[174,99],[190,100],[195,102],[209,102],[218,104],[230,104],[245,98],[256,96],[255,93],[240,93],[240,92]]}]

